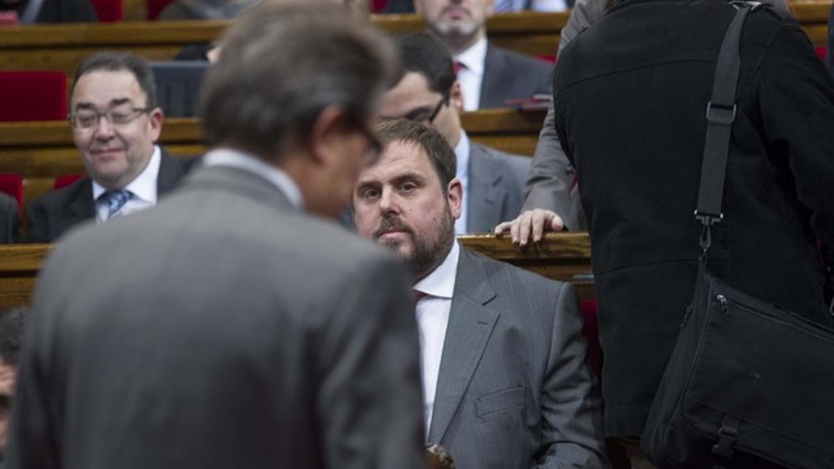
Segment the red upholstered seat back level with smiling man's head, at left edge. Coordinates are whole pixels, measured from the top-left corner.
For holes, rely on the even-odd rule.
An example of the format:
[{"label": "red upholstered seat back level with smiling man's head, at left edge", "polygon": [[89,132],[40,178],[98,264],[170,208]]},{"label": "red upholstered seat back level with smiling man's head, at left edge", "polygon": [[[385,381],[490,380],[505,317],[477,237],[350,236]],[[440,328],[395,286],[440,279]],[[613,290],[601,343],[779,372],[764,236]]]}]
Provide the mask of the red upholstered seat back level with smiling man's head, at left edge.
[{"label": "red upholstered seat back level with smiling man's head, at left edge", "polygon": [[62,72],[0,72],[0,122],[67,119],[67,78]]}]

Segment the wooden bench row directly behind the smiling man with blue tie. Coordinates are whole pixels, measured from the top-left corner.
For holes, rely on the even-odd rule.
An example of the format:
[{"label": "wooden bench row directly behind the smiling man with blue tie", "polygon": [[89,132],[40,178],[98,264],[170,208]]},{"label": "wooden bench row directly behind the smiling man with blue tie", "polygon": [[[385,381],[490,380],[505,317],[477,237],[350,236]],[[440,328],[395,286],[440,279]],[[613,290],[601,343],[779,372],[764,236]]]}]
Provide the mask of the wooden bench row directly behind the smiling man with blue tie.
[{"label": "wooden bench row directly behind the smiling man with blue tie", "polygon": [[[515,154],[533,154],[543,111],[490,109],[465,113],[463,124],[475,141]],[[172,154],[193,155],[205,150],[198,119],[168,119],[162,144]],[[66,121],[0,123],[0,173],[23,175],[24,199],[37,199],[52,190],[62,174],[83,173],[78,150]]]}]

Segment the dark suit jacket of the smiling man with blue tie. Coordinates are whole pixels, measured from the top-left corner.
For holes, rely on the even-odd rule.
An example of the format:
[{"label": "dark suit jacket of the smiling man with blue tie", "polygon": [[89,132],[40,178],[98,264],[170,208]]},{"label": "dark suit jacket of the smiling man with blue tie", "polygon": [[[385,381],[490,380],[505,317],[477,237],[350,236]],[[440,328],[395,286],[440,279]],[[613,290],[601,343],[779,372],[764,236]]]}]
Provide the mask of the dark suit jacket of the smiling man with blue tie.
[{"label": "dark suit jacket of the smiling man with blue tie", "polygon": [[[176,187],[193,164],[193,159],[177,159],[162,149],[158,195],[162,196]],[[28,240],[30,243],[52,243],[76,224],[95,217],[93,179],[85,176],[28,204]]]}]

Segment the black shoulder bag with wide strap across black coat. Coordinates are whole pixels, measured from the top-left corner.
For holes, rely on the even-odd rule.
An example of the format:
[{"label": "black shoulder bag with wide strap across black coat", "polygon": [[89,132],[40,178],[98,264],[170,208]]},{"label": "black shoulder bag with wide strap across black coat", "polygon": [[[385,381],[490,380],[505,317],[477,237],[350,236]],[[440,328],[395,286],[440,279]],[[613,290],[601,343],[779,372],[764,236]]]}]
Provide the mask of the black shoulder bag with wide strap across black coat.
[{"label": "black shoulder bag with wide strap across black coat", "polygon": [[697,219],[703,223],[695,296],[651,406],[642,448],[670,468],[834,467],[834,330],[721,283],[706,269],[720,223],[736,119],[738,11],[707,104]]}]

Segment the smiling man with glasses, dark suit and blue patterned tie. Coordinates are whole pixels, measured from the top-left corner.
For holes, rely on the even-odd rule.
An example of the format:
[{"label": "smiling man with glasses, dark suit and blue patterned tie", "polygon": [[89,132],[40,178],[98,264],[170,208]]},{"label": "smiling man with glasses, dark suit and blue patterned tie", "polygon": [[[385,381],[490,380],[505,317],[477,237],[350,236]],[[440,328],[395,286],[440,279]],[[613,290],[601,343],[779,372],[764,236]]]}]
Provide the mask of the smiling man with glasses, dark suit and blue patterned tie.
[{"label": "smiling man with glasses, dark suit and blue patterned tie", "polygon": [[163,112],[143,58],[105,52],[75,72],[69,122],[86,177],[29,204],[29,240],[51,243],[88,219],[104,223],[153,207],[188,164],[156,144]]}]

